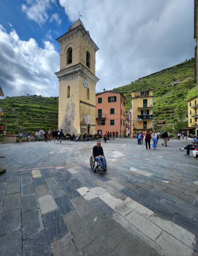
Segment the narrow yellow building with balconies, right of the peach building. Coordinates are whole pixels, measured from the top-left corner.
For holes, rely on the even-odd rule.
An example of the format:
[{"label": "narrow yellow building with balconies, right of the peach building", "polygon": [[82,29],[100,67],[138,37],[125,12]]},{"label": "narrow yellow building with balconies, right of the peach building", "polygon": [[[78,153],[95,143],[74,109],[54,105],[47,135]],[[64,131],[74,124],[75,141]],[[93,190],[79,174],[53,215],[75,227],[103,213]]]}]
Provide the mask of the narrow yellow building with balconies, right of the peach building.
[{"label": "narrow yellow building with balconies, right of the peach building", "polygon": [[138,131],[143,133],[153,127],[153,92],[134,90],[131,93],[131,136],[136,137]]}]

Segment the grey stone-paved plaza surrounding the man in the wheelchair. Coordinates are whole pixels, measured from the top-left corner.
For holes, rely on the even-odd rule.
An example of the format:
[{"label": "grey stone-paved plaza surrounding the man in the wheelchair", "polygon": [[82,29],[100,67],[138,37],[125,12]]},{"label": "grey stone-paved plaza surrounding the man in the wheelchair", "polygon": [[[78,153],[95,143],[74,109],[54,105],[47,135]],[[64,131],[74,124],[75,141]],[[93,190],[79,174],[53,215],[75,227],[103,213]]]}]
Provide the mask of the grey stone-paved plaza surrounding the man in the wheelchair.
[{"label": "grey stone-paved plaza surrounding the man in the wheelchair", "polygon": [[96,141],[0,145],[0,255],[198,255],[198,160],[161,142],[101,140],[105,173]]}]

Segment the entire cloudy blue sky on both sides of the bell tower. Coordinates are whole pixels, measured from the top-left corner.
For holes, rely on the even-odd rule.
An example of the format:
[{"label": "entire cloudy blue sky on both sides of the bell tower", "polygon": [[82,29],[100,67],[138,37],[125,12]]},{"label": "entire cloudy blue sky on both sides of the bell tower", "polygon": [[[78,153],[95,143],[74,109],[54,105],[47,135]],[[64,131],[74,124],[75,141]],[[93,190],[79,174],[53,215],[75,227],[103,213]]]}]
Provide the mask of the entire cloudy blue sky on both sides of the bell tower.
[{"label": "entire cloudy blue sky on both sides of the bell tower", "polygon": [[0,0],[5,96],[58,96],[59,44],[78,19],[100,50],[96,91],[129,84],[194,56],[194,0]]}]

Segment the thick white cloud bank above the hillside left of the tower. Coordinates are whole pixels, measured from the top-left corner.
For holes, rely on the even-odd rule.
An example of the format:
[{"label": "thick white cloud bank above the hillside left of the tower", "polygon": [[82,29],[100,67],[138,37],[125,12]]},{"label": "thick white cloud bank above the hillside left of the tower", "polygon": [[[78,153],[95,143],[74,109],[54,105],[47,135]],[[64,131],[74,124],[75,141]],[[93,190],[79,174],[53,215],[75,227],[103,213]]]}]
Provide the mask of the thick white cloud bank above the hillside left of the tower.
[{"label": "thick white cloud bank above the hillside left of the tower", "polygon": [[21,40],[17,32],[10,34],[0,25],[0,85],[4,95],[29,94],[58,96],[59,54],[54,45],[35,39]]}]

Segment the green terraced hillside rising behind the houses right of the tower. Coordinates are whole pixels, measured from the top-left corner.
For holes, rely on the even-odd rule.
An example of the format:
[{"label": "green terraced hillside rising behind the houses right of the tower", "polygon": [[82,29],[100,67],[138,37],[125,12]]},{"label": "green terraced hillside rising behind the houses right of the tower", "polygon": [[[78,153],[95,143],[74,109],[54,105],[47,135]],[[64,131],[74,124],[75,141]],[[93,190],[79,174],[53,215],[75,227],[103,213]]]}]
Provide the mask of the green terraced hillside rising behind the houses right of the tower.
[{"label": "green terraced hillside rising behind the houses right of the tower", "polygon": [[185,120],[188,114],[188,98],[197,94],[194,81],[195,59],[177,64],[171,68],[161,70],[149,76],[144,76],[131,82],[129,85],[114,88],[112,90],[123,92],[128,102],[126,109],[131,107],[131,91],[138,89],[153,89],[153,114],[156,122],[166,120],[167,123],[175,123],[177,120]]}]

